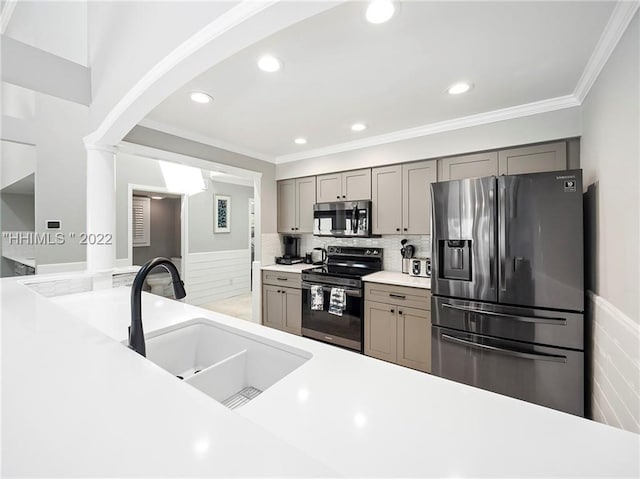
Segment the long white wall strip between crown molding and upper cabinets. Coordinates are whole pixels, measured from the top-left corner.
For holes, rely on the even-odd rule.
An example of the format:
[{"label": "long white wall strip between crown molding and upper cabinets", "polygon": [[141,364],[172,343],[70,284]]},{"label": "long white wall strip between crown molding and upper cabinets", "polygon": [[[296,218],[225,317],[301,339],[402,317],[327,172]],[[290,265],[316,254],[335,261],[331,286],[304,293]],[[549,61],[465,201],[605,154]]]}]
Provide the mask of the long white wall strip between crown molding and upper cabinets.
[{"label": "long white wall strip between crown molding and upper cabinets", "polygon": [[580,109],[566,108],[308,160],[281,163],[276,166],[276,178],[297,178],[576,136],[580,136]]}]

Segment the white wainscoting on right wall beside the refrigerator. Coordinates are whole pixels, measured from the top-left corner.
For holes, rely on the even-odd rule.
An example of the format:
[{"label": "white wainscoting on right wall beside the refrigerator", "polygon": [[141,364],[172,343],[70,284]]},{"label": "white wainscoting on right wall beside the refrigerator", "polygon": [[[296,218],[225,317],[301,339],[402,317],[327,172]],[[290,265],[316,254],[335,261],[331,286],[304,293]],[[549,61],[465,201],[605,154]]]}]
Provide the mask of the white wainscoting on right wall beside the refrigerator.
[{"label": "white wainscoting on right wall beside the refrigerator", "polygon": [[592,418],[640,433],[640,325],[601,296],[587,297]]}]

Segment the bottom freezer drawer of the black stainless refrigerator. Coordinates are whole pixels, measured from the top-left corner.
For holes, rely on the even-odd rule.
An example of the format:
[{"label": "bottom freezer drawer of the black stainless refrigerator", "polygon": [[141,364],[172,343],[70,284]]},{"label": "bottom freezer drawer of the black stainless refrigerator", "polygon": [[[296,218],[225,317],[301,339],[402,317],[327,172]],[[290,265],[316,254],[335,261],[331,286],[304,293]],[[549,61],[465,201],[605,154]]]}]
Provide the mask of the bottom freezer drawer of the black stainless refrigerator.
[{"label": "bottom freezer drawer of the black stainless refrigerator", "polygon": [[584,416],[584,353],[432,326],[432,374]]}]

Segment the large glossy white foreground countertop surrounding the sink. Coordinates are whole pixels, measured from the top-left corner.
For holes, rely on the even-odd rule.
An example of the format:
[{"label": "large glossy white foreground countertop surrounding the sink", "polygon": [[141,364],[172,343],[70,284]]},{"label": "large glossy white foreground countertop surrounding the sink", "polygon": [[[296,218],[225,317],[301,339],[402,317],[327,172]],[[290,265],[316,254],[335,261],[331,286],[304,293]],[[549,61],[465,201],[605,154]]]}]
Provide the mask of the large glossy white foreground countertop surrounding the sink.
[{"label": "large glossy white foreground countertop surrounding the sink", "polygon": [[144,294],[313,357],[230,411],[119,343],[129,289],[2,297],[6,476],[632,476],[640,436]]}]

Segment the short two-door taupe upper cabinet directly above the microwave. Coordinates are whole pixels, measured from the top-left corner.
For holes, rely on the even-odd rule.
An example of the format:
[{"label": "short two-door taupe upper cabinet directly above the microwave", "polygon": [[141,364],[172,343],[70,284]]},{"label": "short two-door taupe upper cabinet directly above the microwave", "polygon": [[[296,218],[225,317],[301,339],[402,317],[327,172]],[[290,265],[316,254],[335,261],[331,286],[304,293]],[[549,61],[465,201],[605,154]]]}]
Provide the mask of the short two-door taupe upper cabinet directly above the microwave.
[{"label": "short two-door taupe upper cabinet directly above the microwave", "polygon": [[317,202],[371,199],[371,169],[345,171],[316,177]]}]

